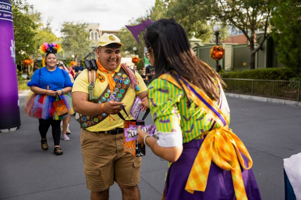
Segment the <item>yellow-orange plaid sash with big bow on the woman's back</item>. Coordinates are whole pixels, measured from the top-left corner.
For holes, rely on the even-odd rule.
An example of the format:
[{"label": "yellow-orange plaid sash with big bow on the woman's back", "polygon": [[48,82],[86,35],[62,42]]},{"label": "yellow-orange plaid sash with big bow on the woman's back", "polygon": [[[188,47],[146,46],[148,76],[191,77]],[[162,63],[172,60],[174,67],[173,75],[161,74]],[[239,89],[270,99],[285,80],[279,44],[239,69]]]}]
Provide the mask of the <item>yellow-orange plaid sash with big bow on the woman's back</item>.
[{"label": "yellow-orange plaid sash with big bow on the woman's back", "polygon": [[[182,88],[170,74],[162,74],[159,78],[165,79],[175,86]],[[253,161],[247,148],[237,135],[228,128],[229,122],[227,118],[214,104],[212,99],[197,86],[188,83],[184,78],[180,78],[180,82],[182,83],[188,98],[212,115],[216,123],[220,125],[219,128],[214,128],[209,132],[203,133],[202,137],[206,135],[206,138],[194,160],[186,182],[185,190],[191,194],[193,194],[194,191],[205,191],[211,161],[213,161],[220,168],[227,171],[231,170],[236,198],[247,200],[248,198],[240,170],[240,165],[244,169],[250,169],[253,165]],[[221,89],[220,92],[223,92],[223,90]],[[248,158],[248,167],[246,167],[240,152]]]}]

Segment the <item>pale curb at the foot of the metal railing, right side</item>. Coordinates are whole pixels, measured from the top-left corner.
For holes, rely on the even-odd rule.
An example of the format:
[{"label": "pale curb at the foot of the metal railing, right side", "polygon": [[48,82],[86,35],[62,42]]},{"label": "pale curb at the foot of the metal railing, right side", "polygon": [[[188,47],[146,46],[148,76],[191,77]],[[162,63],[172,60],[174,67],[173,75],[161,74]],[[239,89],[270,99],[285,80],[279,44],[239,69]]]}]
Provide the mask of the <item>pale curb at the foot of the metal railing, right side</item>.
[{"label": "pale curb at the foot of the metal railing, right side", "polygon": [[277,104],[284,104],[284,105],[301,106],[301,102],[286,100],[286,99],[243,95],[243,94],[236,94],[236,93],[229,93],[229,92],[225,92],[225,94],[226,94],[226,96],[229,96],[229,97],[250,99],[250,100],[259,101],[259,102],[269,102],[269,103],[277,103]]}]

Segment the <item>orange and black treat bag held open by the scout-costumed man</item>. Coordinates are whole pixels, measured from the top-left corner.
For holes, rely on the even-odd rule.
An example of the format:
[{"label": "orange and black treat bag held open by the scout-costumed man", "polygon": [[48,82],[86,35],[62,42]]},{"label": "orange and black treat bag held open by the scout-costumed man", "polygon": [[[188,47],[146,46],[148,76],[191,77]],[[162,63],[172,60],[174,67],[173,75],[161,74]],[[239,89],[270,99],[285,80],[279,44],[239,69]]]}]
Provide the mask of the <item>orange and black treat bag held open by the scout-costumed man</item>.
[{"label": "orange and black treat bag held open by the scout-costumed man", "polygon": [[[123,105],[120,105],[120,108],[122,108],[123,112],[126,114],[126,116],[129,118],[129,115],[126,112],[126,109],[124,108]],[[119,112],[118,116],[123,120],[123,129],[126,130],[126,128],[129,128],[130,125],[137,125],[137,126],[144,126],[144,120],[147,117],[147,115],[149,114],[150,110],[148,109],[144,116],[142,117],[142,120],[126,120],[122,114]],[[139,114],[138,114],[139,115]],[[123,133],[125,135],[125,133]],[[132,154],[135,157],[138,156],[145,156],[145,145],[141,145],[139,144],[136,140],[133,141],[126,141],[125,136],[123,135],[123,147],[124,147],[124,152],[125,153],[129,153]]]}]

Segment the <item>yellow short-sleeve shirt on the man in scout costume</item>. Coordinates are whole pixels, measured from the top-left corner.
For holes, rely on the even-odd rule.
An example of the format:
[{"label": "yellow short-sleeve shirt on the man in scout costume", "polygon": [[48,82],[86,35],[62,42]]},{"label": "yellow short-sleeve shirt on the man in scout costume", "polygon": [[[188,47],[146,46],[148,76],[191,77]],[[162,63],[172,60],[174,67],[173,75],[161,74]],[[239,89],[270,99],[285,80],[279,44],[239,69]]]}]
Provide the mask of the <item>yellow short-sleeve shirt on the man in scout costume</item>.
[{"label": "yellow short-sleeve shirt on the man in scout costume", "polygon": [[[119,72],[120,68],[121,68],[121,66],[119,65],[119,67],[115,71]],[[87,73],[88,73],[88,70],[84,69],[82,71],[82,73],[80,73],[76,77],[76,79],[73,83],[72,92],[85,92],[87,94],[89,93],[88,92],[89,83],[88,83]],[[106,73],[104,73],[100,70],[97,70],[97,73],[103,75],[103,77],[105,77],[105,80],[104,80],[104,82],[101,82],[98,79],[96,80],[95,87],[93,89],[93,96],[100,96],[109,84]],[[114,73],[112,73],[112,76],[114,77]],[[137,81],[139,82],[138,86],[139,86],[140,90],[136,91],[135,89],[132,89],[131,87],[129,87],[128,91],[125,94],[123,94],[125,96],[124,96],[122,102],[126,105],[125,109],[128,114],[132,108],[132,105],[134,104],[136,95],[141,92],[147,91],[147,87],[146,87],[142,77],[140,76],[140,74],[137,71],[135,72],[135,76],[136,76]],[[123,113],[123,111],[121,111],[121,113],[124,115],[125,118],[127,118],[126,115]],[[111,116],[116,121],[113,121],[111,119],[111,123],[110,123],[109,117],[107,117],[106,119],[101,121],[101,123],[98,123],[94,126],[88,127],[86,129],[88,131],[97,132],[97,131],[108,131],[108,130],[115,129],[117,127],[123,128],[123,120],[120,119],[120,117],[118,115],[111,115]],[[131,117],[131,120],[133,119],[130,114],[129,114],[129,117]]]}]

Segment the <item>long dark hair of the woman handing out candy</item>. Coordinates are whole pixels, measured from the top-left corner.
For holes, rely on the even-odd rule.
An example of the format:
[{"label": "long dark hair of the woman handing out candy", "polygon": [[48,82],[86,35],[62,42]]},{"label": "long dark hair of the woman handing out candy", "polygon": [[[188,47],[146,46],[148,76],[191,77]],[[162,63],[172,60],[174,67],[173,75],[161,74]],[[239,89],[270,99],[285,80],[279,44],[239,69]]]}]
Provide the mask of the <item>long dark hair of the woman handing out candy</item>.
[{"label": "long dark hair of the woman handing out candy", "polygon": [[144,41],[147,49],[154,51],[155,75],[152,80],[169,72],[183,90],[177,75],[202,89],[211,99],[219,99],[216,81],[223,81],[194,54],[185,30],[174,19],[160,19],[151,23],[147,26]]}]

